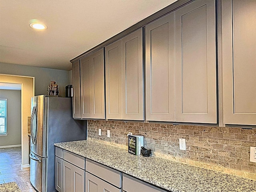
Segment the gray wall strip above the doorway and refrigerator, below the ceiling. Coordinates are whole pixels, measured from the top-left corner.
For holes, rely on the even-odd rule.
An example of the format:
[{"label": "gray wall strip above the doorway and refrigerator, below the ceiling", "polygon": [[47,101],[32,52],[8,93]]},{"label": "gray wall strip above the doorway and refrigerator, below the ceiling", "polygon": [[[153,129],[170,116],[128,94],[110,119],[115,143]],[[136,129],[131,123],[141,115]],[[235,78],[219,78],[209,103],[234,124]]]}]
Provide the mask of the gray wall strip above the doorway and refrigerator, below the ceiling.
[{"label": "gray wall strip above the doorway and refrigerator, below the ceiling", "polygon": [[60,97],[65,97],[65,86],[70,84],[69,71],[7,64],[0,62],[0,74],[34,77],[35,95],[46,94],[50,81],[59,85]]}]

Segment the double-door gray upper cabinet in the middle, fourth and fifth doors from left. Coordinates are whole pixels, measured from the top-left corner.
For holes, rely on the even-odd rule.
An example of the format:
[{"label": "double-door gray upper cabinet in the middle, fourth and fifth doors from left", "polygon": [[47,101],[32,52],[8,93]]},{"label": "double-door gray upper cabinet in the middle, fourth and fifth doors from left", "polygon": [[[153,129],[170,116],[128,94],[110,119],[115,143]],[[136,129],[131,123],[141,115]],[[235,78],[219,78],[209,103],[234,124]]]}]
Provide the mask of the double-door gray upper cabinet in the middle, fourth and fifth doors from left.
[{"label": "double-door gray upper cabinet in the middle, fourth and fifth doors from left", "polygon": [[106,46],[106,118],[144,120],[142,29]]}]

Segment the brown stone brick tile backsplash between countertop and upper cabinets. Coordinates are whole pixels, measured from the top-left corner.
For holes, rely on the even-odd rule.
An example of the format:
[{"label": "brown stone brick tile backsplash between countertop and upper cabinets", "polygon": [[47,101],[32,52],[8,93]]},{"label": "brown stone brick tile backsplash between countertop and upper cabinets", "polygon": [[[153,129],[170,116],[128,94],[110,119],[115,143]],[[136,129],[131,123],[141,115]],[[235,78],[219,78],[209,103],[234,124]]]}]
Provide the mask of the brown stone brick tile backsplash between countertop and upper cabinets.
[{"label": "brown stone brick tile backsplash between countertop and upper cabinets", "polygon": [[[143,135],[152,155],[256,180],[256,163],[250,162],[255,129],[88,120],[88,140],[128,148],[128,132]],[[186,151],[179,149],[179,138],[186,139]]]}]

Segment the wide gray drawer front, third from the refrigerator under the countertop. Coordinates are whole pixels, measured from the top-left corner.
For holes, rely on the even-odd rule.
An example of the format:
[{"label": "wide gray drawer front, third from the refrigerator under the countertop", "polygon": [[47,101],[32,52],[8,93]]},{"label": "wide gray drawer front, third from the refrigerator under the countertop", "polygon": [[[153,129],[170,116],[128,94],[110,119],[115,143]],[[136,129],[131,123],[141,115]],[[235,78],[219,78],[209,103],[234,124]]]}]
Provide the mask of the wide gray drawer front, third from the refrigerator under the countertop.
[{"label": "wide gray drawer front, third from the refrigerator under the countertop", "polygon": [[99,178],[102,178],[102,180],[105,180],[118,188],[121,188],[122,186],[122,177],[121,172],[119,171],[88,159],[86,159],[86,171],[98,176]]}]

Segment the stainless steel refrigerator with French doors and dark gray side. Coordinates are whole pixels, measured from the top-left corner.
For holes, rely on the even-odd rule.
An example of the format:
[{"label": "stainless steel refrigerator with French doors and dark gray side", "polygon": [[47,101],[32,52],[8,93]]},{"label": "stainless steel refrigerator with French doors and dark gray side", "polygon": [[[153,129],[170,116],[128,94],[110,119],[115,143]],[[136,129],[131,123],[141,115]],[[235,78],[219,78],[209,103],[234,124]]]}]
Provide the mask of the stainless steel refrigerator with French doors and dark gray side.
[{"label": "stainless steel refrigerator with French doors and dark gray side", "polygon": [[72,118],[72,98],[31,98],[30,182],[38,192],[56,192],[56,142],[85,140],[86,120]]}]

